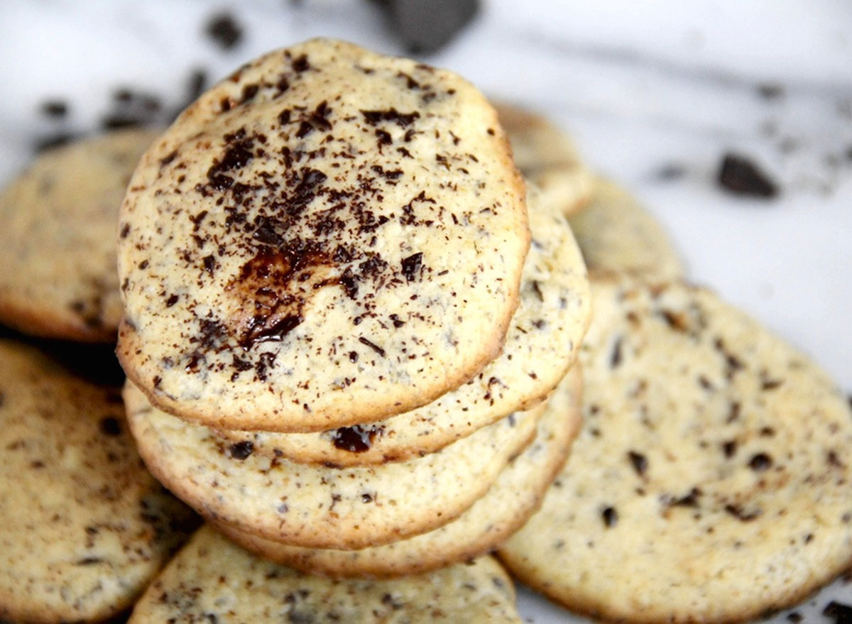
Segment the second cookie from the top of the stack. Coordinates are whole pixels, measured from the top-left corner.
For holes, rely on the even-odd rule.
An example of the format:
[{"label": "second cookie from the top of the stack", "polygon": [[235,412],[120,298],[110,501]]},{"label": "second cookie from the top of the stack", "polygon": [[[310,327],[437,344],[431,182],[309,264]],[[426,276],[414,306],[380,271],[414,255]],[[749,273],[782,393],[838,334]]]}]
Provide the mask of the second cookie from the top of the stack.
[{"label": "second cookie from the top of the stack", "polygon": [[423,456],[540,401],[573,364],[590,320],[583,259],[566,218],[527,195],[533,244],[521,275],[521,305],[503,353],[458,390],[393,418],[322,433],[221,430],[230,442],[301,463],[374,465]]}]

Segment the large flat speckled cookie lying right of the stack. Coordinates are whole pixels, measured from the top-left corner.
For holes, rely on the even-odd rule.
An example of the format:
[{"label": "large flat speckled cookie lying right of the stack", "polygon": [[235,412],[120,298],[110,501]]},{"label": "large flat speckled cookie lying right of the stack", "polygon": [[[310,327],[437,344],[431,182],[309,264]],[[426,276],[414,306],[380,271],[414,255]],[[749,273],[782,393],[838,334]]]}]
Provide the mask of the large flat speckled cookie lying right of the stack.
[{"label": "large flat speckled cookie lying right of the stack", "polygon": [[500,551],[573,610],[732,621],[852,561],[852,413],[819,368],[711,292],[592,285],[584,429]]}]

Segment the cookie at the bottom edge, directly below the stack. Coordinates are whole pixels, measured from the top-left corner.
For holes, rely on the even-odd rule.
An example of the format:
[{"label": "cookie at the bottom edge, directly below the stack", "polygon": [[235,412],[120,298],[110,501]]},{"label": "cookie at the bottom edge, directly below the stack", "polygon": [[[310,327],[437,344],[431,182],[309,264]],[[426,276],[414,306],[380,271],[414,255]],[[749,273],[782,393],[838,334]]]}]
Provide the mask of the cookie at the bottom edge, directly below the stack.
[{"label": "cookie at the bottom edge, directly below the stack", "polygon": [[166,621],[521,624],[512,581],[491,557],[394,581],[329,581],[256,558],[209,527],[153,582],[129,624]]}]

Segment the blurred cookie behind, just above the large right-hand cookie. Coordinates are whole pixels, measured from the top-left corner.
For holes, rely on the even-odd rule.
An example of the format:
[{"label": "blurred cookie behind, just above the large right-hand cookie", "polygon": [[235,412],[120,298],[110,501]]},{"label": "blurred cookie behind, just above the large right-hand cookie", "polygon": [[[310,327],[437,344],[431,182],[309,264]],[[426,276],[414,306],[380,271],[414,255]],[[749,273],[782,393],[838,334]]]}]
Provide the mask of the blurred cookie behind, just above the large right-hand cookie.
[{"label": "blurred cookie behind, just above the large right-hand cookie", "polygon": [[683,275],[665,230],[614,182],[596,178],[590,204],[570,222],[590,271],[627,272],[657,281]]}]

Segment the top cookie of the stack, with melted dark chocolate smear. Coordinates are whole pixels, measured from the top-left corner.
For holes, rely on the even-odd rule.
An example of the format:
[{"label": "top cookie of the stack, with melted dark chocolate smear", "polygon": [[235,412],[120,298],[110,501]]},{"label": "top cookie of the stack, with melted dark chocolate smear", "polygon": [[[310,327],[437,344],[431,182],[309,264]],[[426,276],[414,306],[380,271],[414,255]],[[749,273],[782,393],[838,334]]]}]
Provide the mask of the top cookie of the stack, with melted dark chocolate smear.
[{"label": "top cookie of the stack, with melted dark chocolate smear", "polygon": [[225,429],[327,430],[457,388],[499,354],[529,246],[482,95],[325,39],[187,108],[120,221],[128,376]]}]

